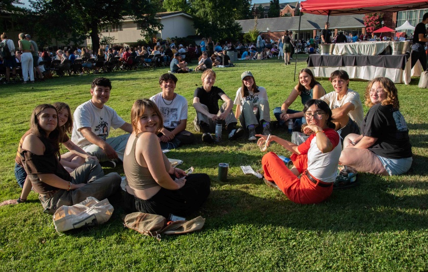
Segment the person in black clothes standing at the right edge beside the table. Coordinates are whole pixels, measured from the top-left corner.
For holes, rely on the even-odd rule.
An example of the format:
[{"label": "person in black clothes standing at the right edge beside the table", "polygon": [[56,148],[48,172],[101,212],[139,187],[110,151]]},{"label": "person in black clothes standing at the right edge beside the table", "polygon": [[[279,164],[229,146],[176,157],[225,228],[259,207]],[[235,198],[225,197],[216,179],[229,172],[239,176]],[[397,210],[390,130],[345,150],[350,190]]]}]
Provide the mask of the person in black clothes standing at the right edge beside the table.
[{"label": "person in black clothes standing at the right edge beside the table", "polygon": [[423,70],[426,70],[426,52],[425,42],[428,39],[425,38],[426,28],[425,24],[428,23],[428,13],[423,14],[422,22],[416,24],[415,33],[413,34],[413,45],[412,45],[412,68],[419,60],[422,64]]}]

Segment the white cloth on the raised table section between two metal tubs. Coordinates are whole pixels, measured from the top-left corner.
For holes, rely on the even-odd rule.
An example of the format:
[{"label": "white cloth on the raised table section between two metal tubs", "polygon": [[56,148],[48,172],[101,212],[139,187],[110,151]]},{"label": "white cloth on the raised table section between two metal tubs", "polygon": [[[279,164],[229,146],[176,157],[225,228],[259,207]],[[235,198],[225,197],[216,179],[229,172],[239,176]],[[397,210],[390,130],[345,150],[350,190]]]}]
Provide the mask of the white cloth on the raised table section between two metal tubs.
[{"label": "white cloth on the raised table section between two metal tubs", "polygon": [[333,49],[333,55],[377,56],[390,44],[390,41],[336,43]]}]

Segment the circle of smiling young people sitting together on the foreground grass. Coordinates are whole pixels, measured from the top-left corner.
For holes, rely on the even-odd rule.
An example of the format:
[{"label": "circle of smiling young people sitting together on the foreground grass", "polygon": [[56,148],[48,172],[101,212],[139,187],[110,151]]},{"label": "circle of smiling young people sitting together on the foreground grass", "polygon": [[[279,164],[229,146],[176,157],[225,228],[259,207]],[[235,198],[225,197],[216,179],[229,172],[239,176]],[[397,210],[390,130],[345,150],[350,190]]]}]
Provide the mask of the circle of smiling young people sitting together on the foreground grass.
[{"label": "circle of smiling young people sitting together on the foreground grass", "polygon": [[[215,72],[208,69],[201,79],[193,105],[194,126],[203,132],[202,141],[214,142],[211,133],[221,124],[229,140],[242,137],[247,130],[249,140],[260,137],[258,144],[277,142],[283,146],[292,153],[292,168],[269,152],[261,162],[264,181],[293,202],[322,202],[334,186],[355,185],[357,171],[399,175],[411,167],[409,130],[399,111],[397,89],[386,77],[369,82],[365,104],[370,109],[363,117],[360,97],[348,88],[346,72],[331,74],[334,91],[326,94],[310,70],[301,70],[299,84],[281,108],[274,110],[280,127],[289,120],[296,124],[293,133],[299,137],[291,142],[272,134],[266,90],[256,85],[250,71],[241,75],[242,87],[234,101],[214,86]],[[91,100],[76,108],[74,122],[65,103],[37,106],[16,156],[15,176],[23,187],[21,197],[0,205],[25,202],[32,187],[50,214],[89,196],[102,200],[120,194],[121,177],[117,173],[104,175],[101,165],[115,167],[115,161],[121,160],[126,176],[124,205],[128,210],[166,217],[171,213],[186,216],[197,210],[209,195],[209,176],[187,175],[172,167],[163,153],[163,149],[195,142],[195,135],[185,130],[188,101],[175,93],[177,80],[171,73],[161,75],[162,92],[133,103],[130,124],[105,105],[112,85],[103,77],[94,79]],[[299,95],[303,111],[289,110]],[[224,101],[221,107],[220,99]],[[235,115],[233,104],[237,105]],[[236,127],[237,119],[243,128]],[[128,133],[109,138],[112,127]],[[256,127],[262,128],[261,134],[256,134]],[[71,140],[67,135],[70,131]],[[60,143],[70,152],[61,155]],[[338,166],[343,166],[339,174]]]}]

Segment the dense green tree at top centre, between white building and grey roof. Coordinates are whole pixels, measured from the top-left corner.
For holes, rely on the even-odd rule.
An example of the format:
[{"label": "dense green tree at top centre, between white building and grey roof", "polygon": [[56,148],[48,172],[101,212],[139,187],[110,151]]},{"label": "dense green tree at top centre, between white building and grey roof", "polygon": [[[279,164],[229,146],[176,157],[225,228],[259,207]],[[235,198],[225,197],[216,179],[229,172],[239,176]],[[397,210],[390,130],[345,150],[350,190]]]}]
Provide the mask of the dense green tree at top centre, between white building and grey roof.
[{"label": "dense green tree at top centre, between white building and grey roof", "polygon": [[242,28],[235,22],[242,0],[193,0],[192,15],[198,35],[213,40],[234,40]]}]

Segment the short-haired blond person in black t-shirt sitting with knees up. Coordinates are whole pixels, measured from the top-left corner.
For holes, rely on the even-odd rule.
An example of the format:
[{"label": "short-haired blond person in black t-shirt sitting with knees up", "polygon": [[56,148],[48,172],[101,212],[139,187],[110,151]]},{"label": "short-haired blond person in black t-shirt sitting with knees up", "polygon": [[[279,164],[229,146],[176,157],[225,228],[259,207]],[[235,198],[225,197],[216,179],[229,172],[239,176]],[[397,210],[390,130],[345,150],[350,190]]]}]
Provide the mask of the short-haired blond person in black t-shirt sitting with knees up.
[{"label": "short-haired blond person in black t-shirt sitting with knees up", "polygon": [[[193,95],[193,106],[196,117],[193,120],[196,131],[202,131],[202,141],[214,142],[211,133],[216,130],[216,122],[226,125],[229,140],[235,140],[244,135],[244,129],[237,128],[237,120],[232,113],[233,101],[219,87],[213,86],[216,82],[216,72],[207,69],[202,73],[202,87],[196,88]],[[219,100],[224,101],[219,108]]]}]

